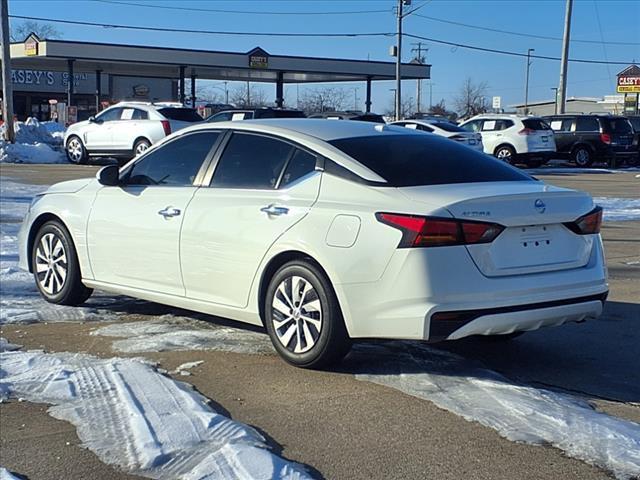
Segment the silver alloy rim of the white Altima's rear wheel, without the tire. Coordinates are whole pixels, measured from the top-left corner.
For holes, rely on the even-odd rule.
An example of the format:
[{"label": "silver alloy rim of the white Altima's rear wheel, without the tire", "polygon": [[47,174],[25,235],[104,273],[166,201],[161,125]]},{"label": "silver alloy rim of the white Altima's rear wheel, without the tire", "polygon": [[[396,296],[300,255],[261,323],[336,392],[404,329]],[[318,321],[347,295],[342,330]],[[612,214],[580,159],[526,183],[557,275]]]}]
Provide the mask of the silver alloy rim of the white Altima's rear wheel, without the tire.
[{"label": "silver alloy rim of the white Altima's rear wheel, without the tire", "polygon": [[322,306],[318,292],[303,277],[285,278],[273,295],[273,329],[279,342],[292,353],[313,348],[322,330]]}]

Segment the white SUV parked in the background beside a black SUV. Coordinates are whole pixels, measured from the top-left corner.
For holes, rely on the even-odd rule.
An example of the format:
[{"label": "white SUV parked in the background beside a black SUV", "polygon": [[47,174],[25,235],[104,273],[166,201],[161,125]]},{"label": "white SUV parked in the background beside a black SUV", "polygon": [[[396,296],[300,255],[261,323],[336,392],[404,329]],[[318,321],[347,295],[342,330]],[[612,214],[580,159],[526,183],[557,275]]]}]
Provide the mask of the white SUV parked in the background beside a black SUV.
[{"label": "white SUV parked in the background beside a black SUV", "polygon": [[538,167],[556,152],[553,130],[538,117],[485,114],[460,125],[482,135],[484,152],[500,160]]}]

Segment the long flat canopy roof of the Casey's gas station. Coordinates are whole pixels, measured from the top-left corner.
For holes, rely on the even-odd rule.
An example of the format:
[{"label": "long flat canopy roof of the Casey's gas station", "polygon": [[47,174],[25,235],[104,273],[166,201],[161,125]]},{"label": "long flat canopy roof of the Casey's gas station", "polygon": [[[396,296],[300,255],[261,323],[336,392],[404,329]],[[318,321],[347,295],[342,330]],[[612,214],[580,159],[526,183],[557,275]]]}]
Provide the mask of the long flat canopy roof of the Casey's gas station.
[{"label": "long flat canopy roof of the Casey's gas station", "polygon": [[[115,75],[162,78],[179,77],[181,66],[187,77],[230,81],[276,82],[279,75],[283,83],[395,78],[394,62],[270,55],[259,47],[243,53],[37,37],[35,41],[35,52],[25,48],[26,42],[11,44],[12,68],[66,71],[67,61],[74,60],[75,72],[101,70]],[[428,79],[430,71],[430,65],[411,63],[403,63],[401,68],[405,79]]]}]

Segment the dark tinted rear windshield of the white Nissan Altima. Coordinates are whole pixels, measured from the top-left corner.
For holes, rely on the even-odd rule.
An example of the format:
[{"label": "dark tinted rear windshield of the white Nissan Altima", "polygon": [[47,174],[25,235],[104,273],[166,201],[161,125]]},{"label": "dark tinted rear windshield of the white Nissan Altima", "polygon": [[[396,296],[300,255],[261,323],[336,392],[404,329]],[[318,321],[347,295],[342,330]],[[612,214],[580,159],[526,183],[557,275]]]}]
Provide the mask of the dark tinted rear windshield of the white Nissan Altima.
[{"label": "dark tinted rear windshield of the white Nissan Altima", "polygon": [[329,143],[393,187],[534,181],[489,155],[431,135],[341,138]]}]

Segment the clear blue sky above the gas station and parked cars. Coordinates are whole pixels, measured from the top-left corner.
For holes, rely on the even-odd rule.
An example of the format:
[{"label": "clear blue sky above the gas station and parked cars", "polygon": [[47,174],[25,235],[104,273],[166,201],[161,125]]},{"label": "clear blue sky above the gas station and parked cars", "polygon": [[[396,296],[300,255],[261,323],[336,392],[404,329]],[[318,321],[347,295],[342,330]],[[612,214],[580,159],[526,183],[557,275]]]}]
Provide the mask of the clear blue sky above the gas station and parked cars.
[{"label": "clear blue sky above the gas station and parked cars", "polygon": [[[107,23],[126,23],[144,26],[180,27],[242,32],[393,32],[395,17],[393,0],[334,0],[334,1],[163,1],[126,0],[146,5],[183,6],[209,9],[250,10],[260,12],[322,12],[353,10],[385,10],[381,13],[359,15],[258,15],[222,14],[213,12],[175,11],[138,6],[115,5],[95,0],[9,0],[14,15],[64,18]],[[438,19],[473,24],[524,34],[562,37],[564,0],[536,1],[444,1],[414,0],[413,7],[425,4],[417,13]],[[211,50],[248,51],[260,46],[272,54],[308,55],[372,60],[389,60],[387,37],[358,38],[276,38],[255,36],[208,36],[182,33],[156,33],[103,29],[56,24],[63,38],[95,42],[113,42],[155,46],[199,48]],[[560,56],[561,41],[525,38],[486,30],[471,29],[437,22],[416,15],[406,18],[407,33],[435,39],[466,43],[486,48],[526,53],[535,48],[540,55]],[[609,61],[640,62],[640,2],[616,0],[576,0],[574,2],[570,57]],[[577,40],[595,41],[581,43]],[[636,45],[603,45],[605,42],[626,42]],[[415,40],[405,39],[407,43]],[[432,67],[434,103],[443,98],[452,106],[453,97],[466,77],[489,84],[489,96],[502,96],[503,105],[524,99],[525,59],[495,55],[425,42],[429,48],[427,61]],[[411,59],[404,49],[403,60]],[[569,66],[569,96],[602,96],[615,93],[615,75],[624,66]],[[531,65],[529,99],[553,97],[551,87],[558,84],[560,64],[534,59]],[[363,107],[364,86],[359,87],[360,108]],[[373,90],[373,109],[384,111],[392,101],[392,82],[379,82]],[[264,87],[270,97],[275,87]],[[301,91],[306,87],[301,87]],[[404,83],[404,96],[415,97],[415,82]],[[295,87],[285,92],[289,100],[295,98]],[[424,87],[423,104],[428,104],[429,88]]]}]

